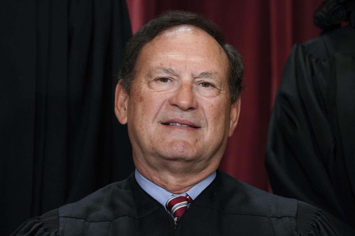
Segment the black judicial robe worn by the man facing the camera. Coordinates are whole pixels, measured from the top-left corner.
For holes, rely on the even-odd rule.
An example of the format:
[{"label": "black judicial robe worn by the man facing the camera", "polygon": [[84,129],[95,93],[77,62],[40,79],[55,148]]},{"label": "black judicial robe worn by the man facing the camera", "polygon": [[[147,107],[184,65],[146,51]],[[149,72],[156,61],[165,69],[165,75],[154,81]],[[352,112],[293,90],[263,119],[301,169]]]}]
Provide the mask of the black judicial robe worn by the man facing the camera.
[{"label": "black judicial robe worn by the man facing the camera", "polygon": [[217,171],[174,228],[134,174],[24,222],[13,235],[338,235],[320,209]]}]

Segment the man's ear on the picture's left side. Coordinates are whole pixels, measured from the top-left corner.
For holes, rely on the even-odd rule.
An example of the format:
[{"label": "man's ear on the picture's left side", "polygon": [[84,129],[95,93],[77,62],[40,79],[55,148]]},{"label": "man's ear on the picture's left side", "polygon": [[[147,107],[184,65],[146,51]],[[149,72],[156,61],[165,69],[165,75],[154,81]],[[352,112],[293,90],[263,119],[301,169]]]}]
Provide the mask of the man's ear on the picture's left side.
[{"label": "man's ear on the picture's left side", "polygon": [[115,90],[115,114],[122,125],[127,123],[127,102],[128,94],[123,90],[119,80]]}]

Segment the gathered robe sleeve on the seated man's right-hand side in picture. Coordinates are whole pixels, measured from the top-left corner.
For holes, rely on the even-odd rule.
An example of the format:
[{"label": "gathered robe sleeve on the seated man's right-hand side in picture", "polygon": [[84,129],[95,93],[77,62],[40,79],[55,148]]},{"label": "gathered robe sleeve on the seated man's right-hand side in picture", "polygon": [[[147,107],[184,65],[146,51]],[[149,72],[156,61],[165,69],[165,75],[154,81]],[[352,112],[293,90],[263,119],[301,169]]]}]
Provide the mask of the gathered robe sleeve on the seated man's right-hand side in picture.
[{"label": "gathered robe sleeve on the seated man's right-hand side in picture", "polygon": [[297,234],[301,236],[340,235],[322,210],[305,202],[298,202],[296,221]]}]

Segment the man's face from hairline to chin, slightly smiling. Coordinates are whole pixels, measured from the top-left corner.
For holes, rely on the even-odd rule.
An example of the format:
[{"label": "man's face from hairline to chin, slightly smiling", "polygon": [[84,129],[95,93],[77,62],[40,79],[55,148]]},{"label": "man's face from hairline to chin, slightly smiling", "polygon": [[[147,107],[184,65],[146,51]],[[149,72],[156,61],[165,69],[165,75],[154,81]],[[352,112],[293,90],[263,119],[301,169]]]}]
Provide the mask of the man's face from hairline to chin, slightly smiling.
[{"label": "man's face from hairline to chin, slightly smiling", "polygon": [[239,115],[239,101],[230,102],[228,75],[222,47],[199,28],[181,25],[148,42],[124,100],[136,166],[218,166]]}]

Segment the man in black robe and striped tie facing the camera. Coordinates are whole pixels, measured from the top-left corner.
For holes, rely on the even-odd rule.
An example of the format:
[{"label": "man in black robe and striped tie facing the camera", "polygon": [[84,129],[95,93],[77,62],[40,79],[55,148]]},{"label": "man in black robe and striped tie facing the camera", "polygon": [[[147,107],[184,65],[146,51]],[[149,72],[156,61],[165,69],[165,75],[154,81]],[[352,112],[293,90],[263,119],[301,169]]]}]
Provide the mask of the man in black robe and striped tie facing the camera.
[{"label": "man in black robe and striped tie facing the camera", "polygon": [[237,125],[243,68],[213,23],[165,13],[133,36],[124,58],[115,113],[128,125],[135,174],[14,234],[337,234],[319,209],[217,170]]}]

